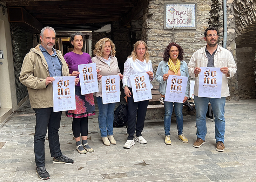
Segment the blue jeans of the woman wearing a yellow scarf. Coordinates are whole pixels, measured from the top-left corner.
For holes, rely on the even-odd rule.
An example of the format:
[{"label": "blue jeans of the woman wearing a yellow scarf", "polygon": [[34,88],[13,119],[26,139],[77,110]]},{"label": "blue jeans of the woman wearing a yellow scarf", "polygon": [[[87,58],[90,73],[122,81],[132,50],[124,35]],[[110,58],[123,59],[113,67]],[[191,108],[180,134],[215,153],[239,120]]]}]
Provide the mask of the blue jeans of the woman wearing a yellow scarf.
[{"label": "blue jeans of the woman wearing a yellow scarf", "polygon": [[[164,100],[164,98],[163,98]],[[176,114],[176,124],[178,135],[181,135],[183,132],[183,103],[173,103],[164,101],[164,134],[170,135],[170,127],[171,127],[171,114],[173,114],[173,104],[174,104],[174,112]]]}]

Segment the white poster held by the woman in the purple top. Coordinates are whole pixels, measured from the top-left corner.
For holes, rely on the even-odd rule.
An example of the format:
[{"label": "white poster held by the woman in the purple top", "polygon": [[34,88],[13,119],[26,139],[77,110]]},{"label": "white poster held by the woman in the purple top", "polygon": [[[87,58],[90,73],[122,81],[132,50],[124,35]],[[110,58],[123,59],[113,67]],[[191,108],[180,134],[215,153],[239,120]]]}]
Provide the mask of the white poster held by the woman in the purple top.
[{"label": "white poster held by the woman in the purple top", "polygon": [[99,92],[96,63],[78,65],[81,94]]}]

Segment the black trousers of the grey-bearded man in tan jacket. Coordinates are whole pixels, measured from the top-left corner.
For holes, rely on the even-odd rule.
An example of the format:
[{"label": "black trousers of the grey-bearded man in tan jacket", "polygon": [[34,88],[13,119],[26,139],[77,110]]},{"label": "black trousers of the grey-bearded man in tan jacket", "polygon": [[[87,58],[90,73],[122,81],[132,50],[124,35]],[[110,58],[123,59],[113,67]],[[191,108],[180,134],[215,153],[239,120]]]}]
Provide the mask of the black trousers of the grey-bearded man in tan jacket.
[{"label": "black trousers of the grey-bearded man in tan jacket", "polygon": [[59,129],[62,112],[53,112],[53,107],[34,109],[36,116],[34,152],[37,167],[45,166],[45,136],[48,128],[50,155],[61,156]]}]

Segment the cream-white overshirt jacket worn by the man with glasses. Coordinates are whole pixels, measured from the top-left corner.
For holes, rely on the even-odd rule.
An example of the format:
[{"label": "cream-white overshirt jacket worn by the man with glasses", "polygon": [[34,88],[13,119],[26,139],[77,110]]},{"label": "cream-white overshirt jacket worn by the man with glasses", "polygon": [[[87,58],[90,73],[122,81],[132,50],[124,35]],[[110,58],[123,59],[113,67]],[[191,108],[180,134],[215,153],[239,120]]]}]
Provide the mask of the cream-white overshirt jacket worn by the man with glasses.
[{"label": "cream-white overshirt jacket worn by the man with glasses", "polygon": [[[192,78],[196,78],[195,87],[194,87],[194,95],[198,96],[198,83],[199,83],[199,77],[198,75],[195,75],[194,70],[195,67],[207,67],[208,58],[206,55],[206,46],[203,48],[197,50],[192,55],[189,63],[188,63],[188,72],[189,76]],[[229,94],[229,87],[228,87],[228,78],[231,78],[236,73],[236,63],[233,58],[233,55],[230,51],[227,49],[224,49],[223,47],[220,47],[220,45],[217,44],[217,50],[214,55],[214,67],[215,68],[222,68],[222,67],[228,67],[229,68],[229,77],[227,77],[225,74],[222,75],[222,85],[221,85],[221,97],[228,97]]]}]

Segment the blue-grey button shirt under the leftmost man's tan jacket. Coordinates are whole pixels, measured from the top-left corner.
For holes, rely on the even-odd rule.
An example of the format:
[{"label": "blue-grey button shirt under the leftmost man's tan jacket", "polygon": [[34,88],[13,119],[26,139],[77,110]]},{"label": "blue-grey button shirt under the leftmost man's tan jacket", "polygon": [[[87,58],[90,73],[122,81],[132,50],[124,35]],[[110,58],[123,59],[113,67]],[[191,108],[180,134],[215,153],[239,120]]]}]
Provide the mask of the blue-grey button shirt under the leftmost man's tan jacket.
[{"label": "blue-grey button shirt under the leftmost man's tan jacket", "polygon": [[58,56],[56,55],[55,49],[52,49],[53,55],[50,55],[42,45],[40,45],[39,48],[42,51],[42,54],[45,57],[45,60],[48,64],[48,71],[49,71],[50,77],[62,76],[62,71],[61,71],[62,65]]}]

